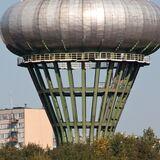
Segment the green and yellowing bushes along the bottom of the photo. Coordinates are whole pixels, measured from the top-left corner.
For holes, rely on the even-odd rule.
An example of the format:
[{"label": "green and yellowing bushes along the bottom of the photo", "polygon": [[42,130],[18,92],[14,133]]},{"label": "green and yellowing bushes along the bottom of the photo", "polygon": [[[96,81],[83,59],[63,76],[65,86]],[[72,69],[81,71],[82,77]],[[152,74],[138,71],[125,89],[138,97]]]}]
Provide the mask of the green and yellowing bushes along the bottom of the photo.
[{"label": "green and yellowing bushes along the bottom of the photo", "polygon": [[160,160],[160,143],[148,128],[141,137],[117,133],[91,145],[69,143],[52,150],[35,144],[21,149],[5,146],[0,149],[0,160]]}]

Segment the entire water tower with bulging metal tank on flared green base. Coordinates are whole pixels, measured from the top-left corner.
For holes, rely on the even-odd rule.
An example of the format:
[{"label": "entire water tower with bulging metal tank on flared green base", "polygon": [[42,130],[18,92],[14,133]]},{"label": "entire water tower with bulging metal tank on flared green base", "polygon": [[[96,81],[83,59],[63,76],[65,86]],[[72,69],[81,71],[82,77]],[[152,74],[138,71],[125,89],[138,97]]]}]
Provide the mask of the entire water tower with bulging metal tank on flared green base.
[{"label": "entire water tower with bulging metal tank on flared green base", "polygon": [[31,75],[57,145],[93,142],[115,132],[140,67],[160,47],[160,8],[148,0],[25,0],[6,11],[1,30]]}]

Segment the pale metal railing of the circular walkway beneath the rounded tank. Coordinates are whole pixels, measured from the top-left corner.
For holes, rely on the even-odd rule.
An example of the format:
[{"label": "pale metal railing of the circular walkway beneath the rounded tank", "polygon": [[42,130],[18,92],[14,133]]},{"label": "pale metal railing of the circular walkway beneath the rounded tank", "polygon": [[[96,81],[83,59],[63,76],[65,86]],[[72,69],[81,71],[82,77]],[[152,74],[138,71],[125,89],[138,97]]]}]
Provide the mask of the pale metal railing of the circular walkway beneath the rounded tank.
[{"label": "pale metal railing of the circular walkway beneath the rounded tank", "polygon": [[30,62],[50,62],[50,61],[131,61],[139,63],[150,63],[149,56],[133,53],[113,53],[113,52],[83,52],[83,53],[53,53],[53,54],[33,54],[18,58],[18,65]]}]

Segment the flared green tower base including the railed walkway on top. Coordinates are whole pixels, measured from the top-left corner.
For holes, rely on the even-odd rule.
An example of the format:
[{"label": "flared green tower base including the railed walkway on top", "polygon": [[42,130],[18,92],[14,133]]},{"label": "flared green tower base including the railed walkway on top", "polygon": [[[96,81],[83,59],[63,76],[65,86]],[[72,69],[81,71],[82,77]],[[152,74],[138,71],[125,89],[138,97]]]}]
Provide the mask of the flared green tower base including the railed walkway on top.
[{"label": "flared green tower base including the railed walkway on top", "polygon": [[[133,58],[132,54],[126,54],[123,58],[119,56],[120,53],[109,53],[109,55],[103,53],[99,54],[97,58],[95,53],[62,53],[49,54],[49,56],[45,54],[34,55],[29,59],[24,59],[21,63],[29,70],[53,127],[57,146],[64,142],[80,142],[80,136],[82,136],[83,142],[88,139],[92,143],[95,138],[99,139],[114,133],[139,68],[149,63],[143,61],[142,55],[138,54]],[[67,59],[68,56],[70,59]],[[105,57],[108,59],[104,59]],[[74,69],[81,69],[81,87],[75,87],[73,62],[75,63]],[[59,65],[60,63],[63,63],[64,66],[62,66],[63,64]],[[102,63],[107,65],[102,66]],[[92,87],[86,85],[86,82],[90,80],[90,78],[86,79],[90,76],[86,76],[86,68],[87,73],[93,69],[95,71]],[[66,77],[61,74],[61,69],[65,69],[68,74],[69,87],[63,85]],[[105,69],[107,72],[103,87],[99,86],[101,69]],[[52,77],[54,72],[55,75]],[[58,84],[56,88],[53,78]],[[102,97],[100,106],[97,106],[98,96]],[[69,99],[66,97],[70,97],[71,106],[68,106]],[[82,120],[79,119],[78,110],[80,109],[77,108],[79,101],[76,97],[82,98],[80,107]],[[90,110],[87,112],[88,97],[93,98],[91,104],[88,104],[91,105],[91,112]],[[97,107],[100,107],[100,110]],[[71,110],[69,110],[70,108]],[[98,119],[96,119],[96,115]]]}]

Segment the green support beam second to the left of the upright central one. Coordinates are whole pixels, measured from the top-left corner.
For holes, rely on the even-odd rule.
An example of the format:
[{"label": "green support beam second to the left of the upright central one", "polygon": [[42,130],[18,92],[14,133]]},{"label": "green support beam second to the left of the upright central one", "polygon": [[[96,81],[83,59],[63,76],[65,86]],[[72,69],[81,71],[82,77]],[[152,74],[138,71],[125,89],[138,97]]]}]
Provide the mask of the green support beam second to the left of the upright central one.
[{"label": "green support beam second to the left of the upright central one", "polygon": [[67,108],[67,102],[66,102],[65,96],[63,94],[63,84],[62,84],[60,70],[58,67],[58,62],[53,62],[53,64],[54,64],[54,70],[55,70],[55,74],[56,74],[58,90],[59,90],[59,94],[60,94],[60,98],[61,98],[61,102],[62,102],[62,107],[63,107],[63,112],[64,112],[64,117],[65,117],[66,126],[67,126],[68,141],[73,142],[72,131],[70,128],[69,112],[68,112],[68,108]]}]

